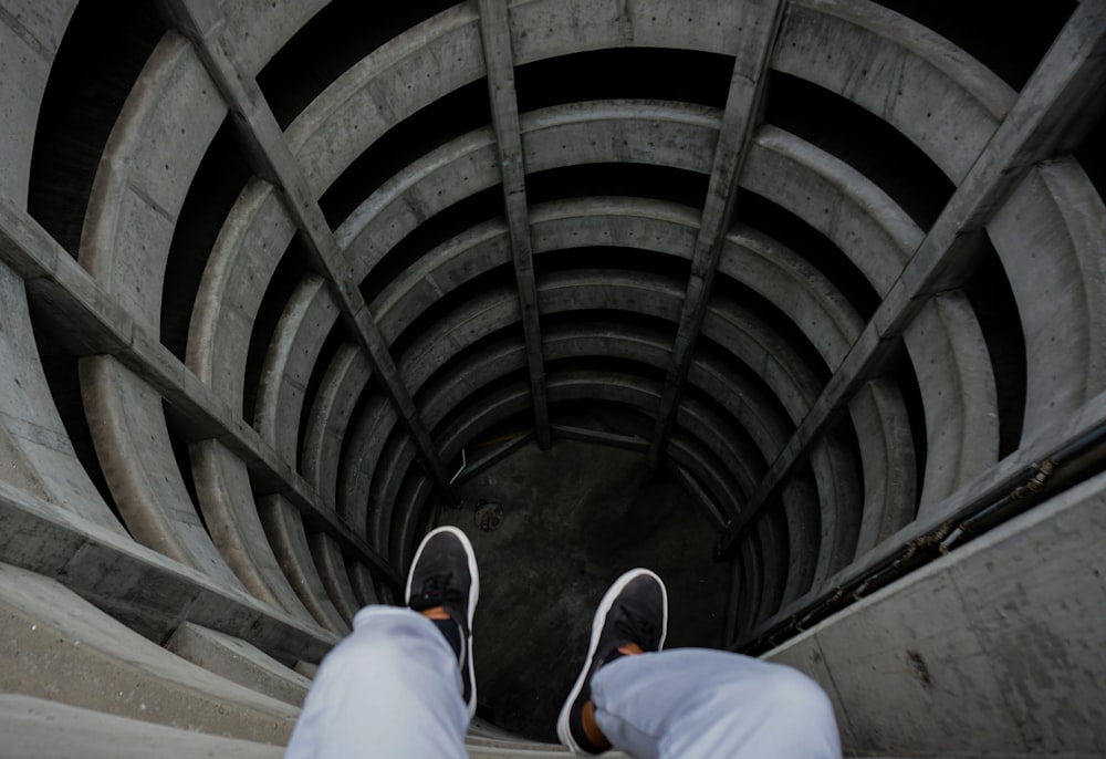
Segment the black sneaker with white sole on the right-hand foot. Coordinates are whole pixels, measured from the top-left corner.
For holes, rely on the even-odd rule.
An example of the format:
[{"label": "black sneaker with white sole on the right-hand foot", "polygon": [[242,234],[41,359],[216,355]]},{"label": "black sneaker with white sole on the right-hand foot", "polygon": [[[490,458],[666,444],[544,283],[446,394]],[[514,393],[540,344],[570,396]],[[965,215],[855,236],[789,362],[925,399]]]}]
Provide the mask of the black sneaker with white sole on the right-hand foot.
[{"label": "black sneaker with white sole on the right-hand foot", "polygon": [[592,675],[604,664],[623,656],[618,648],[636,643],[641,651],[660,651],[668,634],[668,592],[665,583],[647,569],[635,569],[607,590],[592,622],[592,643],[576,684],[561,707],[556,734],[573,753],[602,753],[584,735],[581,716],[592,699]]}]

